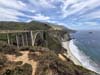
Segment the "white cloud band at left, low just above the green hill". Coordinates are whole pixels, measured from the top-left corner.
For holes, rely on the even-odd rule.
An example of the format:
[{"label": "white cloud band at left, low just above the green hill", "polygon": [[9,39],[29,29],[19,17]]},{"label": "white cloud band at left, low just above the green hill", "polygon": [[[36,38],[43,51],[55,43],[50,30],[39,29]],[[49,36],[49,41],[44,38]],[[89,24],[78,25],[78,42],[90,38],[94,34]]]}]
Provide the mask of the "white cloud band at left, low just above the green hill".
[{"label": "white cloud band at left, low just above the green hill", "polygon": [[31,16],[26,15],[18,10],[0,7],[0,20],[12,19],[12,21],[13,20],[15,21],[15,19],[16,19],[16,21],[17,21],[18,16],[24,16],[27,18],[31,18]]}]

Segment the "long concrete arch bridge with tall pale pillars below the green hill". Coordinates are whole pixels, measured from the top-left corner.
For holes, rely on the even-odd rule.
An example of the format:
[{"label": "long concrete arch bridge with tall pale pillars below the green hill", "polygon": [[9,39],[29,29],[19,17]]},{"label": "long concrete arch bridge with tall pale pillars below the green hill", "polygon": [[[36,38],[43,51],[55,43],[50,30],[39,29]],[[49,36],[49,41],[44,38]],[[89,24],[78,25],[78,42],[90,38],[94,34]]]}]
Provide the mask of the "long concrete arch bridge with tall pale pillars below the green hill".
[{"label": "long concrete arch bridge with tall pale pillars below the green hill", "polygon": [[47,34],[56,37],[59,41],[63,40],[62,30],[0,30],[0,37],[5,36],[5,41],[9,45],[16,45],[18,48],[21,46],[35,46],[37,37],[47,46]]}]

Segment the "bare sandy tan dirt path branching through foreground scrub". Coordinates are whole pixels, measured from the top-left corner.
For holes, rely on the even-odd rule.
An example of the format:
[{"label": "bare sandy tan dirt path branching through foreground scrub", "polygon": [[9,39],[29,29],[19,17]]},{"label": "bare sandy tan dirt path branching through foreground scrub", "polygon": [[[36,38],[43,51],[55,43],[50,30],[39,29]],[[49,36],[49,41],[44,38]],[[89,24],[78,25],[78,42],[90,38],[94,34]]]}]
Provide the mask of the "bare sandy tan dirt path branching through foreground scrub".
[{"label": "bare sandy tan dirt path branching through foreground scrub", "polygon": [[9,61],[22,61],[23,64],[28,63],[32,65],[32,75],[35,75],[36,67],[37,67],[37,62],[34,60],[29,60],[28,54],[29,51],[21,51],[22,56],[16,57],[15,55],[6,55]]}]

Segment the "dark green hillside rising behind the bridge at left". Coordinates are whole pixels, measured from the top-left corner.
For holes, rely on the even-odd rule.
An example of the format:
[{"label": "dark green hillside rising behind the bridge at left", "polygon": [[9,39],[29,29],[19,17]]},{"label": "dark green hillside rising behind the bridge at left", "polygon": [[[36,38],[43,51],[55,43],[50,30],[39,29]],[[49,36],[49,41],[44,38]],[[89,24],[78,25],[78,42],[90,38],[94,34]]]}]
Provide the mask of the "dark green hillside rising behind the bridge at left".
[{"label": "dark green hillside rising behind the bridge at left", "polygon": [[51,26],[43,23],[32,21],[29,23],[24,22],[0,22],[0,30],[47,30]]}]

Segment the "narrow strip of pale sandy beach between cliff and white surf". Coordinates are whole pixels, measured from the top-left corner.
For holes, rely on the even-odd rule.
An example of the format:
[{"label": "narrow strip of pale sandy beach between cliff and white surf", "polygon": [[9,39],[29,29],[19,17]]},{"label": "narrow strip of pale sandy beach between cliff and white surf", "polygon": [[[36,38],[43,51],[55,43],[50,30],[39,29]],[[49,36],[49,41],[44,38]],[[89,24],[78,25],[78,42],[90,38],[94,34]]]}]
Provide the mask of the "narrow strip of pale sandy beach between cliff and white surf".
[{"label": "narrow strip of pale sandy beach between cliff and white surf", "polygon": [[82,66],[81,62],[72,54],[70,48],[69,48],[70,41],[62,42],[62,46],[67,50],[67,54],[64,53],[65,56],[67,56],[70,60],[74,62],[74,64]]}]

